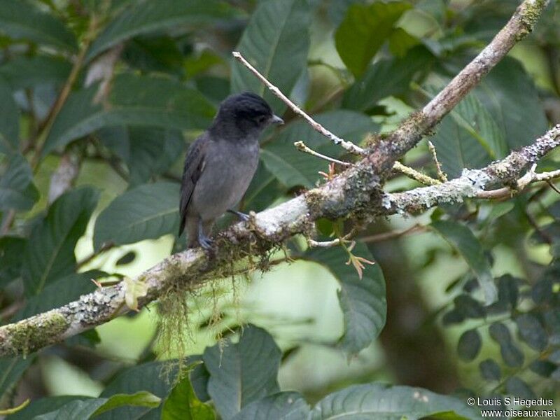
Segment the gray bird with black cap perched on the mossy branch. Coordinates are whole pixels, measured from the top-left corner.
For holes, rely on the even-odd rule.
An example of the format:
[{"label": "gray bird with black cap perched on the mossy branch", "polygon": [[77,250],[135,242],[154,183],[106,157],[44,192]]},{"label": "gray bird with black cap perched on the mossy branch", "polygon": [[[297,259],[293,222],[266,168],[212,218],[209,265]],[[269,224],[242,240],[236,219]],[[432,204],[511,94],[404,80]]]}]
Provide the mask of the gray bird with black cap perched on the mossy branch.
[{"label": "gray bird with black cap perched on the mossy branch", "polygon": [[271,124],[283,124],[260,96],[244,92],[226,98],[211,127],[190,146],[181,185],[181,228],[187,228],[188,248],[211,247],[216,219],[245,194],[258,165],[258,139]]}]

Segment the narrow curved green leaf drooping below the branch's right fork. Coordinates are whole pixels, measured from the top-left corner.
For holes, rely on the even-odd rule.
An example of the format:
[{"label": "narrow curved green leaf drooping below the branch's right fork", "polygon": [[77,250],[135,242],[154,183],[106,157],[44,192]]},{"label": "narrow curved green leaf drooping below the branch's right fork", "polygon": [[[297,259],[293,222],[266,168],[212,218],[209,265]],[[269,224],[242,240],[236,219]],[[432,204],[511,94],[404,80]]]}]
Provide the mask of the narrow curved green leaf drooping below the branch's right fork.
[{"label": "narrow curved green leaf drooping below the branch's right fork", "polygon": [[475,273],[478,283],[484,292],[486,304],[495,302],[498,297],[498,290],[493,282],[491,268],[482,244],[472,231],[461,223],[452,221],[433,221],[433,228],[463,255],[472,272]]}]

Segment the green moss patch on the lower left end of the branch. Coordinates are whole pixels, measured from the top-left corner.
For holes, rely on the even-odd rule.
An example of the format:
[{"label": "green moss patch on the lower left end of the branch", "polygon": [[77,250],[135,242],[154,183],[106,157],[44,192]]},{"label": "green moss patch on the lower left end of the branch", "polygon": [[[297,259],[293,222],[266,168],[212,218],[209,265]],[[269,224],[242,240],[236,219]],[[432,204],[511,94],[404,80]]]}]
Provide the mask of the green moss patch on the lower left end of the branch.
[{"label": "green moss patch on the lower left end of the branch", "polygon": [[68,325],[64,316],[56,311],[49,311],[13,325],[6,325],[6,337],[13,351],[25,356],[30,351],[57,341]]}]

